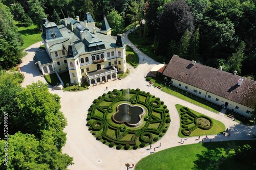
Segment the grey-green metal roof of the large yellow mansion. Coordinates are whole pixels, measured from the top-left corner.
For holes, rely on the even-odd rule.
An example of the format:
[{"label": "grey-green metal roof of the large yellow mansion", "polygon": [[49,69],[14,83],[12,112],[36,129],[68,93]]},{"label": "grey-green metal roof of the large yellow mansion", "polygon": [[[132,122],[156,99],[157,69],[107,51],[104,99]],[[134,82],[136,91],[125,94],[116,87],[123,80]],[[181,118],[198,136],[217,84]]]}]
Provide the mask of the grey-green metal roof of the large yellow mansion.
[{"label": "grey-green metal roof of the large yellow mansion", "polygon": [[[86,16],[90,19],[91,14],[86,13]],[[86,23],[70,17],[63,19],[59,26],[48,20],[43,21],[42,38],[49,45],[48,52],[64,49],[68,51],[69,45],[73,44],[73,49],[77,51],[78,55],[72,56],[77,58],[83,54],[122,47],[120,45],[117,46],[114,38],[102,34],[100,29],[93,26],[92,23],[94,23],[93,20]]]}]

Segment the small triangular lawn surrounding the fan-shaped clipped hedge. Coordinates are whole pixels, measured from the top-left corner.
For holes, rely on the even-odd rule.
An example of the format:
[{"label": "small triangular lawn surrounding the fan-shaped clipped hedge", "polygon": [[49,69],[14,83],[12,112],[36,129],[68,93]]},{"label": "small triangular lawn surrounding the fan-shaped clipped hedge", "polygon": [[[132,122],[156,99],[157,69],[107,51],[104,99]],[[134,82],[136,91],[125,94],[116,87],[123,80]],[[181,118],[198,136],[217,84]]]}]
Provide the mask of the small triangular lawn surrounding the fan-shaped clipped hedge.
[{"label": "small triangular lawn surrounding the fan-shaped clipped hedge", "polygon": [[[181,113],[180,109],[181,109],[182,107],[184,107],[184,106],[182,106],[182,105],[175,105],[175,107],[176,107],[176,109],[178,110],[179,115],[180,115],[180,113]],[[204,114],[202,114],[202,113],[196,112],[196,111],[191,110],[191,109],[189,109],[189,110],[190,110],[191,112],[193,112],[193,113],[194,113],[195,115],[197,115],[197,116],[204,116]],[[225,131],[225,125],[224,125],[222,122],[220,122],[220,121],[218,121],[218,120],[216,120],[216,119],[214,119],[214,118],[211,118],[211,120],[212,120],[212,122],[214,123],[214,126],[212,126],[212,128],[210,128],[209,130],[202,130],[202,129],[200,129],[200,128],[197,128],[197,129],[194,130],[194,131],[191,133],[191,135],[189,135],[189,136],[215,135],[215,134],[220,134],[220,133],[222,133],[223,131]],[[183,134],[181,133],[181,130],[183,129],[181,126],[182,126],[182,124],[180,124],[180,129],[179,129],[178,136],[179,136],[179,137],[186,137],[185,135],[183,135]]]}]

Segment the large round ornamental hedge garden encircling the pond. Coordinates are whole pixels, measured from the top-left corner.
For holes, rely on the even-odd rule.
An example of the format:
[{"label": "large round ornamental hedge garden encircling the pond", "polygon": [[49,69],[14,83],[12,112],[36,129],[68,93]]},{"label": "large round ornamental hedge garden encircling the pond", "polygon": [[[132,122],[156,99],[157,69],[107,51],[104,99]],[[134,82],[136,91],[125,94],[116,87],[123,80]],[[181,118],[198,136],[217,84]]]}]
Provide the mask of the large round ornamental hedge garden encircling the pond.
[{"label": "large round ornamental hedge garden encircling the pond", "polygon": [[[144,108],[145,114],[140,126],[131,127],[113,121],[112,115],[122,103]],[[158,141],[166,133],[170,115],[164,102],[149,92],[140,89],[114,89],[93,101],[88,109],[87,120],[87,126],[96,140],[117,150],[136,150]]]}]

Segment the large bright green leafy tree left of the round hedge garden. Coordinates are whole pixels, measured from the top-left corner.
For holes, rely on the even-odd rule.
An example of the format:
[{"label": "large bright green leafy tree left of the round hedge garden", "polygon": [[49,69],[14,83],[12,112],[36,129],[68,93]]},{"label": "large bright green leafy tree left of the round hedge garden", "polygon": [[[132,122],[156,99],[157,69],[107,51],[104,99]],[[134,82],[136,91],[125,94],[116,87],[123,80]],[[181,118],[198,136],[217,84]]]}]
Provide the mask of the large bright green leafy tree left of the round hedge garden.
[{"label": "large bright green leafy tree left of the round hedge garden", "polygon": [[60,98],[48,91],[48,85],[42,82],[32,83],[17,93],[15,98],[19,112],[14,115],[15,128],[22,133],[35,135],[41,139],[44,130],[51,130],[58,149],[66,142],[63,129],[67,120],[60,112]]}]

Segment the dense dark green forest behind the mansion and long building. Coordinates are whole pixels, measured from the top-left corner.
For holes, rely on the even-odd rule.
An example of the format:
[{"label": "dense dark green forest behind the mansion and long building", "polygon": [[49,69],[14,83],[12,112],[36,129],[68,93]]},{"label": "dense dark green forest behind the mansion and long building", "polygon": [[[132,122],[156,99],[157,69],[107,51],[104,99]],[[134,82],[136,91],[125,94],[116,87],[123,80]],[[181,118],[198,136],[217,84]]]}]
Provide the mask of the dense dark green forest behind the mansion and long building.
[{"label": "dense dark green forest behind the mansion and long building", "polygon": [[[1,1],[0,1],[1,2]],[[41,18],[59,24],[60,19],[90,12],[101,26],[106,16],[112,35],[139,26],[144,44],[150,44],[159,58],[168,63],[173,54],[254,80],[256,75],[255,0],[2,0],[1,10],[11,14],[0,22],[0,65],[6,69],[20,62],[22,39],[15,26],[32,23],[41,29]],[[4,13],[4,12],[2,12]],[[7,21],[5,21],[7,20]],[[6,30],[11,30],[7,31]],[[13,45],[6,45],[11,41]],[[10,43],[9,43],[10,44]],[[15,49],[13,49],[15,48]]]}]

